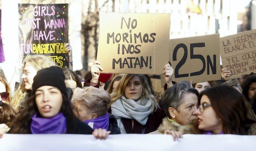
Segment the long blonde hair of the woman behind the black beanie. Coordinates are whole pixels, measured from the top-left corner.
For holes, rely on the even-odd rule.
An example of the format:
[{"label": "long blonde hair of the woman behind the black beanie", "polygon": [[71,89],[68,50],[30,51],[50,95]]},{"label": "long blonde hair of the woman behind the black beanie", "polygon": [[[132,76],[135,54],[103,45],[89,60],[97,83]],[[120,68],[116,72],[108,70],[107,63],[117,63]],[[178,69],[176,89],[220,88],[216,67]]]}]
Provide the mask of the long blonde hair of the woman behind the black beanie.
[{"label": "long blonde hair of the woman behind the black beanie", "polygon": [[[46,55],[38,55],[38,54],[32,55],[27,57],[24,60],[24,65],[20,70],[20,77],[24,72],[23,70],[26,63],[31,64],[36,69],[36,72],[41,69],[48,68],[50,66],[56,66],[56,64]],[[12,97],[12,103],[11,103],[12,107],[16,110],[20,110],[20,104],[27,95],[27,90],[25,89],[24,80],[22,79],[20,80],[21,80],[20,85],[18,86],[17,90],[14,92]]]}]

